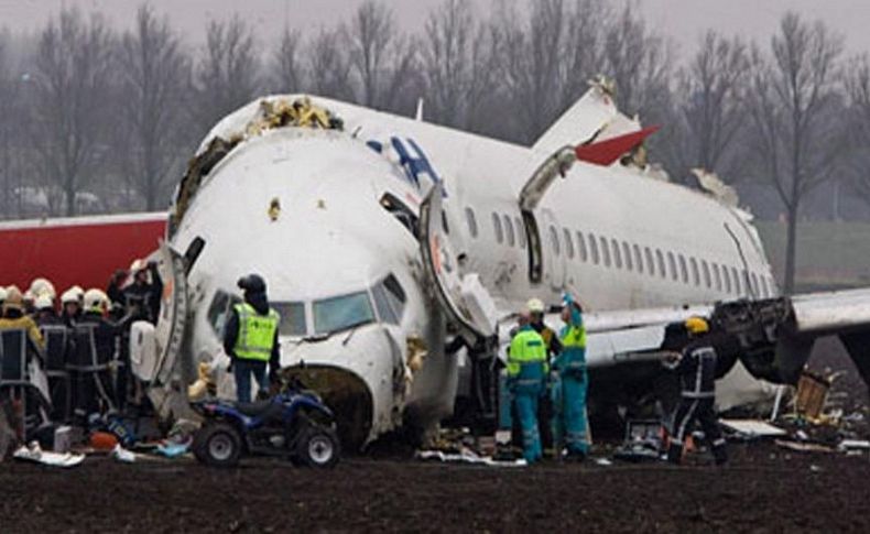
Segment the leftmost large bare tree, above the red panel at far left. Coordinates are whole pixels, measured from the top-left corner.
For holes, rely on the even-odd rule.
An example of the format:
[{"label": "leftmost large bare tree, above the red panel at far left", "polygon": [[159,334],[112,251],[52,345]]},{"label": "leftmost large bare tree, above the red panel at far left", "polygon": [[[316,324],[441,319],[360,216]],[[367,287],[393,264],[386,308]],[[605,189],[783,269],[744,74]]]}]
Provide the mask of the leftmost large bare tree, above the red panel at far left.
[{"label": "leftmost large bare tree, above the red panel at far left", "polygon": [[112,36],[102,20],[64,10],[40,36],[33,91],[34,141],[47,178],[64,194],[66,215],[88,166],[105,150]]}]

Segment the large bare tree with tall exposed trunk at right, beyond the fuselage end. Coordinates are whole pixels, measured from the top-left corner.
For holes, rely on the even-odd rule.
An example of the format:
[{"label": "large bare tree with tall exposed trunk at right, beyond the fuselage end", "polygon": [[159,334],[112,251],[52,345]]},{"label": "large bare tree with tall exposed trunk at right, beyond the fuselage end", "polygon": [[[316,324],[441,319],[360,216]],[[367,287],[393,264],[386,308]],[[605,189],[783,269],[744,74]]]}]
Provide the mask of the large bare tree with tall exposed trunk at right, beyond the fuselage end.
[{"label": "large bare tree with tall exposed trunk at right, beyond the fuselage end", "polygon": [[787,219],[783,290],[794,291],[801,203],[830,179],[844,153],[837,68],[842,41],[820,22],[786,13],[771,57],[753,76],[752,126],[760,173],[770,179]]}]

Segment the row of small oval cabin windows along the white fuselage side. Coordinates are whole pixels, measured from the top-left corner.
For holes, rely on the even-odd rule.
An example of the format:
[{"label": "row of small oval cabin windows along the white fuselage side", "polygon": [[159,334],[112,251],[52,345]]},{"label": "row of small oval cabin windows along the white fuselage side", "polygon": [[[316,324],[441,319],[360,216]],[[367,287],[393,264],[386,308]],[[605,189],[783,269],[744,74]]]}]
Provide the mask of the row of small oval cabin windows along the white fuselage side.
[{"label": "row of small oval cabin windows along the white fuselage side", "polygon": [[[475,211],[470,207],[467,207],[465,211],[468,230],[472,238],[477,238],[478,227]],[[500,216],[492,212],[492,228],[499,244],[507,243],[509,247],[516,244],[521,249],[525,248],[525,230],[519,217],[512,220],[507,215]],[[559,236],[559,231],[552,225],[548,228],[548,233],[553,253],[561,255],[564,247],[568,260],[577,258],[584,263],[590,262],[595,265],[602,264],[606,268],[626,269],[639,274],[670,279],[674,282],[682,281],[684,284],[696,286],[704,285],[737,295],[751,293],[754,296],[772,296],[775,287],[773,280],[769,281],[763,275],[750,273],[747,280],[744,270],[692,257],[686,260],[686,257],[681,253],[663,252],[660,249],[653,251],[650,247],[641,248],[637,243],[620,242],[613,238],[596,236],[591,232],[586,236],[580,231],[572,235],[567,228],[563,228],[562,236]]]}]

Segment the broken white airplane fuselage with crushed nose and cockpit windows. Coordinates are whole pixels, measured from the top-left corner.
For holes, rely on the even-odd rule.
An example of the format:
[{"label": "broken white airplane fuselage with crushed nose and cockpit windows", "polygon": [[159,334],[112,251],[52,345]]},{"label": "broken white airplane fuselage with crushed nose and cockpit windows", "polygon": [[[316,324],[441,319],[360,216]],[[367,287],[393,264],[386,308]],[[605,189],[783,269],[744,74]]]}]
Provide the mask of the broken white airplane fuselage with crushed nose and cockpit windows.
[{"label": "broken white airplane fuselage with crushed nose and cockpit windows", "polygon": [[[233,139],[228,153],[193,189],[181,186],[180,198],[193,194],[176,203],[170,247],[199,253],[188,265],[184,306],[167,303],[157,327],[163,356],[154,369],[168,372],[174,358],[165,355],[182,338],[196,361],[220,368],[236,281],[257,272],[284,319],[282,367],[304,364],[306,381],[365,444],[453,411],[459,359],[445,353],[446,325],[457,316],[476,322],[467,306],[445,304],[452,292],[437,273],[477,274],[499,318],[531,297],[557,306],[564,293],[576,295],[590,312],[590,366],[654,349],[685,306],[709,314],[717,302],[776,297],[746,212],[639,167],[578,162],[524,204],[524,186],[554,148],[586,141],[617,119],[631,127],[612,103],[595,102],[600,89],[591,91],[534,148],[320,98],[313,103],[344,129],[257,126],[262,102],[297,96],[268,97],[228,116],[199,155],[216,139]],[[577,133],[562,139],[565,132]],[[424,204],[433,220],[443,209],[445,224],[424,228]],[[453,255],[439,249],[443,241]],[[540,242],[536,260],[532,241]],[[422,253],[426,247],[434,260]],[[610,336],[650,325],[646,334],[631,330],[634,341]],[[231,381],[222,383],[231,395]],[[742,364],[721,384],[725,407],[770,393]]]}]

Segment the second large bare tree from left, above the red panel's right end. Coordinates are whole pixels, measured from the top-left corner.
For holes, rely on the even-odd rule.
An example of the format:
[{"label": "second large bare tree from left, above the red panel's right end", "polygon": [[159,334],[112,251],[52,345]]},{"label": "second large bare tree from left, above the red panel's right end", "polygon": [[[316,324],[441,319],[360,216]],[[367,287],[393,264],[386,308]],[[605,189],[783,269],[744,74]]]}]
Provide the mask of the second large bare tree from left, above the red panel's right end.
[{"label": "second large bare tree from left, above the red panel's right end", "polygon": [[153,210],[181,150],[191,141],[183,134],[182,120],[189,61],[168,20],[159,20],[146,4],[139,8],[133,31],[124,33],[119,55],[127,176],[144,197],[145,208]]}]

